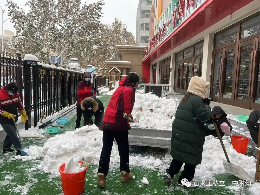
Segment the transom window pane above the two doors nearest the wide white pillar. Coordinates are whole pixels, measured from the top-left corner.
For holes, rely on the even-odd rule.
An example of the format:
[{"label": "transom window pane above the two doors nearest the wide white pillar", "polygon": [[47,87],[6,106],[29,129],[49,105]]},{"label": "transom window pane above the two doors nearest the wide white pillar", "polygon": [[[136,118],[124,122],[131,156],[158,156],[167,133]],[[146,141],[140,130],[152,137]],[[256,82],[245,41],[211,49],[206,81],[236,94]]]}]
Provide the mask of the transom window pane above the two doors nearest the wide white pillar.
[{"label": "transom window pane above the two doors nearest the wide white pillar", "polygon": [[216,36],[216,47],[237,41],[237,26]]}]

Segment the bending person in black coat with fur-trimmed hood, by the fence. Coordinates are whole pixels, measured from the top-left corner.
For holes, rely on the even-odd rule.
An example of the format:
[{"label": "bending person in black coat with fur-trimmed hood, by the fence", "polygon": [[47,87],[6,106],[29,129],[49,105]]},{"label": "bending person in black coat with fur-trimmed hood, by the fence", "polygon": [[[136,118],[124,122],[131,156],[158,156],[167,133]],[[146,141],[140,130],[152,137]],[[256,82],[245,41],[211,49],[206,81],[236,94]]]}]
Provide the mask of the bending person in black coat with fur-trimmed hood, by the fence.
[{"label": "bending person in black coat with fur-trimmed hood, by the fence", "polygon": [[104,106],[103,103],[94,97],[86,97],[82,100],[81,104],[82,114],[84,117],[84,126],[93,124],[92,116],[95,116],[94,124],[102,130],[103,118],[104,118]]}]

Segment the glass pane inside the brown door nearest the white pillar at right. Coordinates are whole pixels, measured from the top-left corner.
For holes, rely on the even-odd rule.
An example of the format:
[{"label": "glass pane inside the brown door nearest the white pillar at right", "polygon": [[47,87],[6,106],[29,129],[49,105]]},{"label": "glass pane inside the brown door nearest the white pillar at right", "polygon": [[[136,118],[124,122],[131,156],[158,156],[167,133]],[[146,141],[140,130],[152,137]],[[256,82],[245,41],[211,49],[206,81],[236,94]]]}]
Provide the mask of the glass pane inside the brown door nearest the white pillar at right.
[{"label": "glass pane inside the brown door nearest the white pillar at right", "polygon": [[215,55],[215,66],[214,66],[214,78],[213,78],[213,96],[219,96],[219,77],[220,77],[220,63],[221,63],[222,53]]}]

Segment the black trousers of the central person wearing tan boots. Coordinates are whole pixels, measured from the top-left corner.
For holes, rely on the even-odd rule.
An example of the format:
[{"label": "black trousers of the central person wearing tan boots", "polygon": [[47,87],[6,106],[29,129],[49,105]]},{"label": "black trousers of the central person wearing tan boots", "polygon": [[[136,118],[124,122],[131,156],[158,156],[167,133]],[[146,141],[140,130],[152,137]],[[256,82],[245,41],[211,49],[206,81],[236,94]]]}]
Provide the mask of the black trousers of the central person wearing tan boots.
[{"label": "black trousers of the central person wearing tan boots", "polygon": [[109,161],[114,139],[118,145],[120,156],[120,171],[130,172],[129,170],[129,145],[128,130],[126,131],[109,131],[103,130],[103,147],[100,154],[99,168],[97,173],[108,173]]}]

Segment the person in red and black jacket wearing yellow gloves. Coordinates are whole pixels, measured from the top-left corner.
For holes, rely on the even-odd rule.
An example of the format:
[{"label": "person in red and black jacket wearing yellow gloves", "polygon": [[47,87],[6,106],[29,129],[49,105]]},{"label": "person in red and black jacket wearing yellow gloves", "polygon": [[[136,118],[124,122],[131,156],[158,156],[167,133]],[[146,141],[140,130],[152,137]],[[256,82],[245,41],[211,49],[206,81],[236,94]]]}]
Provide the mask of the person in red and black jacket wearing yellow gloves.
[{"label": "person in red and black jacket wearing yellow gloves", "polygon": [[15,122],[17,122],[17,109],[20,110],[23,122],[28,120],[28,116],[23,108],[18,91],[17,83],[9,83],[0,90],[0,124],[6,132],[3,144],[3,153],[14,152],[11,146],[14,145],[16,155],[21,155],[22,144],[17,137]]}]

